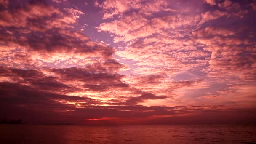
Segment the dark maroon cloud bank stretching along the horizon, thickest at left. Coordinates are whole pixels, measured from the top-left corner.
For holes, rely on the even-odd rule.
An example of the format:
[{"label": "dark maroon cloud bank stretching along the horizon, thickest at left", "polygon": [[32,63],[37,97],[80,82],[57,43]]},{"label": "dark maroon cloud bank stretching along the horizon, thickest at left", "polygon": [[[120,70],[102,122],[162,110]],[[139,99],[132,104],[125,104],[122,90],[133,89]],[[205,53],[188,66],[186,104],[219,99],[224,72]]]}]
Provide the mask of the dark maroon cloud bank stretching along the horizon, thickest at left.
[{"label": "dark maroon cloud bank stretching along the horizon, thickest at left", "polygon": [[[79,123],[79,124],[171,124],[243,122],[253,109],[220,110],[225,106],[96,106],[100,104],[86,97],[66,96],[37,91],[17,83],[0,83],[1,117],[23,118],[27,123]],[[155,96],[142,95],[144,98]],[[69,102],[69,103],[68,103]],[[80,105],[72,104],[80,103]],[[70,104],[71,103],[71,104]],[[6,111],[5,109],[8,109]],[[244,113],[234,120],[235,114]],[[238,113],[237,113],[238,112]],[[191,115],[193,114],[193,115]],[[225,115],[225,120],[221,116]],[[245,116],[245,117],[244,117]],[[102,117],[116,119],[100,120]],[[196,118],[197,117],[197,118]],[[214,119],[212,119],[214,117]],[[237,116],[236,116],[237,117]],[[90,121],[87,119],[99,119]],[[248,122],[244,121],[244,122]]]}]

